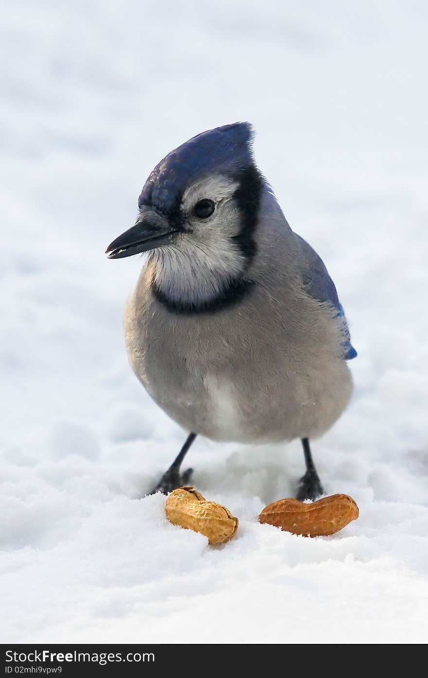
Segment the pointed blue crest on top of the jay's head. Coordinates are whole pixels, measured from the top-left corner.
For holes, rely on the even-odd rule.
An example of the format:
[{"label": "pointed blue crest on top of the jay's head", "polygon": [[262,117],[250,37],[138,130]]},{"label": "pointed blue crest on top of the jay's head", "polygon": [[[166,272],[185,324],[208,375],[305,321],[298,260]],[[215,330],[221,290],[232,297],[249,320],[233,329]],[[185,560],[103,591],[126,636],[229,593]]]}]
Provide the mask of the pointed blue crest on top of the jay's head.
[{"label": "pointed blue crest on top of the jay's head", "polygon": [[138,206],[173,214],[189,184],[210,172],[233,173],[252,164],[252,127],[234,123],[197,134],[168,153],[144,184]]}]

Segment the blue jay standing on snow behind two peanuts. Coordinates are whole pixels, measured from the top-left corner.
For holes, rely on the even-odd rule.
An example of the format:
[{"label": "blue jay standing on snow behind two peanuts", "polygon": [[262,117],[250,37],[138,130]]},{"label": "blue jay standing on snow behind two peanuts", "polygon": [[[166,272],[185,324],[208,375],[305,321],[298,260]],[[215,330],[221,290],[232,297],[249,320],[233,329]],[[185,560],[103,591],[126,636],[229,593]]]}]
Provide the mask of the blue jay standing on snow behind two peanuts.
[{"label": "blue jay standing on snow behind two peanuts", "polygon": [[352,393],[356,357],[327,268],[291,231],[252,155],[252,127],[210,129],[156,165],[135,226],[110,259],[148,257],[126,306],[130,365],[189,436],[153,492],[189,483],[197,434],[214,441],[302,440],[297,498],[323,494],[310,439]]}]

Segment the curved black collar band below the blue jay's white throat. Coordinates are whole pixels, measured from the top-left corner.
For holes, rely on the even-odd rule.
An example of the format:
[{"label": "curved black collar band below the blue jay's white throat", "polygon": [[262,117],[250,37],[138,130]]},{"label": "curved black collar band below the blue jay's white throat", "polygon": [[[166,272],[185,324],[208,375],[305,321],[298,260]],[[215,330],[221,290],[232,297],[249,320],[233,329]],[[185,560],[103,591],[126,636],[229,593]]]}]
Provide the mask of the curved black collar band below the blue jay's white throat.
[{"label": "curved black collar band below the blue jay's white throat", "polygon": [[255,285],[254,280],[244,278],[233,279],[224,285],[222,292],[219,292],[217,296],[199,303],[177,301],[166,296],[156,281],[152,281],[151,291],[158,302],[168,308],[168,311],[171,313],[193,315],[195,313],[216,313],[229,306],[234,306],[241,302],[244,297],[248,296]]}]

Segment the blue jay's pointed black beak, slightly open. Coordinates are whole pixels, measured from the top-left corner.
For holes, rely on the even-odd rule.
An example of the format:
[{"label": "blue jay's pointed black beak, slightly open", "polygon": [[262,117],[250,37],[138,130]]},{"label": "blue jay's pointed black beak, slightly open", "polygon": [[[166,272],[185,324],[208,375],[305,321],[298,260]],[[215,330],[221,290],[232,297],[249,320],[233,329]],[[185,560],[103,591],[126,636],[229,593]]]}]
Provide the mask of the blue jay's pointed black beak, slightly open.
[{"label": "blue jay's pointed black beak, slightly open", "polygon": [[135,226],[110,243],[105,254],[109,259],[121,259],[148,252],[172,241],[176,233],[179,231],[172,228],[165,217],[153,211],[145,212]]}]

